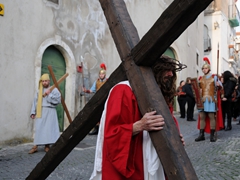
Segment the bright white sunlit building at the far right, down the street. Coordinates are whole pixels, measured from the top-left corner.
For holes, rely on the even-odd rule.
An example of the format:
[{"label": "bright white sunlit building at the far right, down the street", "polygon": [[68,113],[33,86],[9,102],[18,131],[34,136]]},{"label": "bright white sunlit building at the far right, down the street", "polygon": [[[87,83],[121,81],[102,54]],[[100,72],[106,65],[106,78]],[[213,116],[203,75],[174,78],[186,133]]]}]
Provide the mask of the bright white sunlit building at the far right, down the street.
[{"label": "bright white sunlit building at the far right, down the street", "polygon": [[215,0],[204,13],[204,55],[211,61],[213,73],[229,70],[239,75],[239,11],[235,0]]}]

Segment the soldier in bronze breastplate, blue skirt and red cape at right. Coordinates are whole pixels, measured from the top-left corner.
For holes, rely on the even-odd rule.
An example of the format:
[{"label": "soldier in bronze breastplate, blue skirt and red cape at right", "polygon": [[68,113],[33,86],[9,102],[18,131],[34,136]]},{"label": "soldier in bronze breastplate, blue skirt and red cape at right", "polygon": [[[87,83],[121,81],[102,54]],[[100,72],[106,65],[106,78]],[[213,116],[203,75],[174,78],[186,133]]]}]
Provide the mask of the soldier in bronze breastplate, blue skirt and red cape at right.
[{"label": "soldier in bronze breastplate, blue skirt and red cape at right", "polygon": [[[202,90],[203,109],[199,110],[198,129],[200,134],[195,141],[205,140],[204,132],[210,133],[210,141],[215,142],[215,131],[223,127],[222,110],[219,90],[222,85],[217,75],[211,74],[210,61],[207,57],[203,59],[203,69],[208,69],[204,76],[199,77],[199,87]],[[217,86],[217,82],[220,86]]]}]

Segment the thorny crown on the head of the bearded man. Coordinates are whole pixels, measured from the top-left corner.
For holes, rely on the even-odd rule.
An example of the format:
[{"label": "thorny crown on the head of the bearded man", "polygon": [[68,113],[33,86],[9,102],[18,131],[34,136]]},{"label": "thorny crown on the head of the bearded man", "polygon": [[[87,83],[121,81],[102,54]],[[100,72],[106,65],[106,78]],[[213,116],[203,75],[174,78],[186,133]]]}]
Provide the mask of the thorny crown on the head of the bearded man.
[{"label": "thorny crown on the head of the bearded man", "polygon": [[187,68],[187,65],[180,63],[177,59],[170,58],[169,56],[162,55],[157,63],[161,63],[161,69],[172,70],[175,72]]}]

